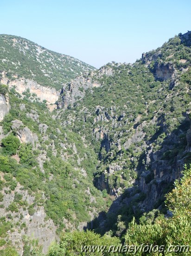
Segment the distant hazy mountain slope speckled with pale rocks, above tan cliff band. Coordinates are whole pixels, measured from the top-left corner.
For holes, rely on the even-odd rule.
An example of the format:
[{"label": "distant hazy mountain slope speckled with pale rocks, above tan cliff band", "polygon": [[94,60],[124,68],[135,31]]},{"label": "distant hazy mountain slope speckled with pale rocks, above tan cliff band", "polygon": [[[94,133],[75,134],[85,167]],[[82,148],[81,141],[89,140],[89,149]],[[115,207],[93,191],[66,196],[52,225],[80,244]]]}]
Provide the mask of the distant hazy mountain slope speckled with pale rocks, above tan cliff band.
[{"label": "distant hazy mountain slope speckled with pale rocks, above tan cliff band", "polygon": [[9,79],[25,77],[45,87],[60,89],[64,82],[95,68],[73,57],[45,49],[14,35],[0,35],[0,71]]}]

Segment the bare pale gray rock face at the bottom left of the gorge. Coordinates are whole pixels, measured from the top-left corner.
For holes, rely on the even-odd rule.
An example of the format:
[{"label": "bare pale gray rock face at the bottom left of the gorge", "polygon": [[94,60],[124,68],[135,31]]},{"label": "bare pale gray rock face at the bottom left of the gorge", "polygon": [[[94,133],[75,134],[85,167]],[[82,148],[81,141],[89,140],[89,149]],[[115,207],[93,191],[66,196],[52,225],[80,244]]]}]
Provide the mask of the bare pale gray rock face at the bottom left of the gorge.
[{"label": "bare pale gray rock face at the bottom left of the gorge", "polygon": [[[2,190],[2,194],[4,195],[2,202],[4,208],[0,208],[0,217],[11,214],[15,222],[25,223],[27,227],[26,229],[21,229],[20,232],[18,232],[19,228],[15,228],[13,232],[8,232],[7,238],[12,241],[13,245],[18,250],[19,255],[23,254],[24,244],[21,243],[21,241],[24,235],[29,237],[31,240],[38,239],[39,245],[43,248],[42,252],[47,253],[50,244],[57,239],[56,227],[53,221],[45,220],[46,214],[43,206],[35,206],[35,212],[32,216],[29,214],[28,209],[23,209],[23,207],[19,207],[19,211],[17,213],[7,211],[6,208],[14,201],[15,193],[21,194],[23,197],[22,199],[26,200],[28,205],[32,205],[35,198],[34,196],[29,195],[19,183],[11,194],[6,194],[6,189],[7,188],[5,187]],[[23,215],[23,219],[20,219],[20,215]]]}]

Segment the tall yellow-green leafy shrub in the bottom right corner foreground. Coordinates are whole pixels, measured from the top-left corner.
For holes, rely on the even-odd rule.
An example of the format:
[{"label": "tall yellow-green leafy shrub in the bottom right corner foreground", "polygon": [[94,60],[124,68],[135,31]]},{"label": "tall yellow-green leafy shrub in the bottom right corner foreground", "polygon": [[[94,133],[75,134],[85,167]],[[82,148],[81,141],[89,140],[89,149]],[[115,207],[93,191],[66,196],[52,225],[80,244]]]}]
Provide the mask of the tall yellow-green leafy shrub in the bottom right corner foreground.
[{"label": "tall yellow-green leafy shrub in the bottom right corner foreground", "polygon": [[[125,243],[128,245],[158,245],[167,249],[169,245],[190,245],[191,244],[191,167],[185,166],[184,176],[180,181],[175,182],[175,189],[166,195],[166,203],[173,212],[173,217],[156,218],[153,224],[147,223],[146,216],[140,218],[140,224],[133,219],[129,223],[125,235]],[[153,211],[151,220],[156,212]],[[153,222],[153,221],[152,221]],[[144,255],[142,252],[138,256]],[[152,254],[151,255],[159,255]],[[176,255],[175,252],[169,254]],[[183,254],[181,254],[183,255]],[[184,253],[189,255],[189,253]]]}]

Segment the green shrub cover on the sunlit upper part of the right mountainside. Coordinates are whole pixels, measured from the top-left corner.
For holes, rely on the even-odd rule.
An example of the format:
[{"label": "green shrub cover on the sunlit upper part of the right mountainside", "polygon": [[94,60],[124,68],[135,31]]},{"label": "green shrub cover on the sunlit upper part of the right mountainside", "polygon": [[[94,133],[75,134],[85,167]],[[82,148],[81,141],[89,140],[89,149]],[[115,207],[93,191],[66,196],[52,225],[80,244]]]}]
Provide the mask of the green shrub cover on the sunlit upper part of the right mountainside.
[{"label": "green shrub cover on the sunlit upper part of the right mountainside", "polygon": [[[158,58],[155,57],[157,60],[154,62],[152,56],[156,55]],[[180,62],[182,59],[185,63]],[[169,61],[177,72],[178,82],[173,88],[170,79],[156,79],[154,75],[158,65]],[[108,182],[116,189],[127,188],[131,178],[136,178],[139,173],[141,161],[147,153],[146,144],[153,147],[153,151],[159,151],[179,128],[182,132],[178,136],[181,138],[177,138],[174,145],[172,142],[161,158],[173,161],[173,157],[185,148],[187,142],[184,138],[190,125],[185,113],[191,110],[190,66],[190,47],[185,47],[175,37],[133,65],[108,64],[105,68],[112,69],[111,76],[100,76],[97,71],[94,79],[102,86],[87,90],[83,100],[75,102],[72,111],[69,108],[60,114],[62,121],[71,120],[66,123],[66,128],[91,141],[101,160],[96,177],[111,164],[121,165],[121,171],[115,175],[108,174]],[[96,132],[92,136],[92,130],[105,133],[105,141],[96,139]],[[127,148],[126,142],[134,134],[138,134],[140,139],[132,141]],[[149,166],[145,168],[149,170]]]}]

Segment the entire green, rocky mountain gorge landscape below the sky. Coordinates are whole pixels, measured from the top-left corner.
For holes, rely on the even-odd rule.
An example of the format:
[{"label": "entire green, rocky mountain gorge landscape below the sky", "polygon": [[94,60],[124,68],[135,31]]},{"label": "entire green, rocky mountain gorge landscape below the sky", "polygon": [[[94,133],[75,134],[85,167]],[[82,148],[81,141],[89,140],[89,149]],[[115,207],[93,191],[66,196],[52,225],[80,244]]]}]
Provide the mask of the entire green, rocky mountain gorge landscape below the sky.
[{"label": "entire green, rocky mountain gorge landscape below the sky", "polygon": [[[1,40],[0,255],[191,245],[191,32],[133,64],[80,62],[71,76],[65,55]],[[161,253],[150,255],[176,255]]]}]

